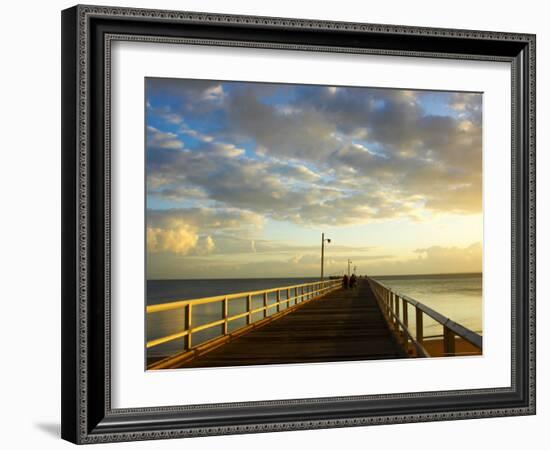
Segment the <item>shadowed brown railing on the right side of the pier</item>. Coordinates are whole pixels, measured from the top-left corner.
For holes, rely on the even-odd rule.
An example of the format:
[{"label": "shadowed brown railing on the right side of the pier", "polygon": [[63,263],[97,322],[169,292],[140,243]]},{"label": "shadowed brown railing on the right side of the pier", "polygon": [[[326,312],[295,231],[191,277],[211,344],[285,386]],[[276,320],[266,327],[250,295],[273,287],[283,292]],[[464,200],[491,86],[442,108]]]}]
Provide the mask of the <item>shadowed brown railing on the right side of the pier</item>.
[{"label": "shadowed brown railing on the right side of the pier", "polygon": [[[469,330],[468,328],[460,325],[445,317],[444,315],[434,311],[432,308],[420,303],[404,294],[400,294],[388,286],[384,285],[380,281],[368,278],[369,285],[376,297],[376,301],[390,329],[393,331],[396,338],[404,350],[408,353],[412,348],[414,349],[416,356],[429,357],[431,356],[426,350],[424,344],[427,337],[424,336],[424,315],[435,320],[443,327],[443,334],[440,336],[443,338],[443,355],[444,356],[456,356],[459,354],[456,350],[456,338],[459,337],[469,342],[481,353],[483,348],[482,337]],[[415,332],[411,331],[409,326],[409,308],[411,305],[415,312]]]}]

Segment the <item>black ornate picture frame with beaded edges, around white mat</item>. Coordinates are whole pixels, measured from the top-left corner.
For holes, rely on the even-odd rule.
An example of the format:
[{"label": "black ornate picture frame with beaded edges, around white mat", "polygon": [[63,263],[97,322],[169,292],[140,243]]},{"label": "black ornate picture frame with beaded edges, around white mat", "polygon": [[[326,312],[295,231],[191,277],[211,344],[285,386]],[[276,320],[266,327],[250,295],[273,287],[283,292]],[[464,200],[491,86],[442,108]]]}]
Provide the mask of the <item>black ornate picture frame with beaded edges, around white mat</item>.
[{"label": "black ornate picture frame with beaded edges, around white mat", "polygon": [[[112,409],[110,42],[507,61],[512,373],[505,388]],[[62,437],[162,439],[535,413],[535,36],[76,6],[62,13]]]}]

